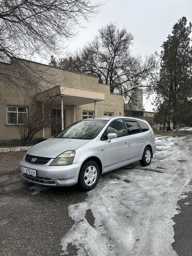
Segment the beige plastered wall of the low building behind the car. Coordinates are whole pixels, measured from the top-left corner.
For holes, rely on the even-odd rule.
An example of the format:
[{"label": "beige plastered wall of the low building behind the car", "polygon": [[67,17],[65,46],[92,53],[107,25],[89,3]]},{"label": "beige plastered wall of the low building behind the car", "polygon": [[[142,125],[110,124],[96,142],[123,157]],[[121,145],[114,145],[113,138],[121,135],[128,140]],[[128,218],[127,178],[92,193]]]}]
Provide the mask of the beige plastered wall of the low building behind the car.
[{"label": "beige plastered wall of the low building behind the car", "polygon": [[[113,112],[115,116],[124,115],[124,98],[122,96],[111,94],[109,86],[99,84],[97,77],[61,70],[35,62],[22,60],[21,65],[22,64],[26,64],[24,68],[29,68],[31,71],[34,70],[35,72],[41,72],[40,74],[45,78],[40,80],[40,86],[34,90],[34,95],[39,91],[43,91],[58,85],[97,90],[105,93],[105,100],[97,103],[97,116],[103,116],[103,112]],[[4,67],[5,65],[0,63],[0,70],[2,66]],[[8,75],[10,73],[12,74],[12,72],[14,72],[16,69],[13,61],[9,65],[6,64],[6,67],[6,72]],[[35,77],[33,77],[34,73],[32,74],[32,80],[35,79]],[[18,83],[21,83],[20,79],[18,79],[18,81]],[[7,105],[28,106],[30,110],[31,101],[26,96],[26,92],[22,91],[22,88],[17,89],[15,86],[11,86],[9,83],[5,82],[5,80],[0,80],[0,140],[20,139],[17,128],[14,125],[7,125]],[[41,111],[42,103],[35,102],[34,105],[39,109],[39,111]],[[59,110],[61,109],[61,106],[60,104],[51,103],[49,105],[49,109]],[[73,124],[73,106],[64,105],[64,110],[65,126]],[[94,104],[91,103],[77,106],[76,121],[83,118],[83,111],[94,111]],[[45,137],[50,136],[51,130],[50,128],[47,128],[45,130]],[[42,132],[37,133],[35,137],[41,138]]]}]

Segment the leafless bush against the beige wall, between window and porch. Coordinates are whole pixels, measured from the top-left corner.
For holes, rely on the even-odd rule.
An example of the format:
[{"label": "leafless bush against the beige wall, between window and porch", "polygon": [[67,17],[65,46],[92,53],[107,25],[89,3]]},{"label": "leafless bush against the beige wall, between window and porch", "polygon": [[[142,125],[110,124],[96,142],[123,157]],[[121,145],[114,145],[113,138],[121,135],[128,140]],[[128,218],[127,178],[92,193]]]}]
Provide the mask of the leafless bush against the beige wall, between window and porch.
[{"label": "leafless bush against the beige wall, between window and porch", "polygon": [[[43,111],[42,103],[36,101],[36,93],[42,89],[40,85],[42,79],[34,77],[34,79],[30,80],[30,77],[25,77],[25,75],[26,74],[23,74],[22,79],[26,79],[29,83],[28,89],[26,90],[25,87],[17,87],[17,89],[19,88],[20,100],[28,102],[29,107],[27,109],[25,108],[26,111],[18,113],[18,115],[13,115],[11,118],[12,123],[15,124],[19,132],[22,144],[29,145],[39,131],[51,127],[50,105],[52,101],[49,100],[44,103]],[[22,108],[22,106],[20,108]]]}]

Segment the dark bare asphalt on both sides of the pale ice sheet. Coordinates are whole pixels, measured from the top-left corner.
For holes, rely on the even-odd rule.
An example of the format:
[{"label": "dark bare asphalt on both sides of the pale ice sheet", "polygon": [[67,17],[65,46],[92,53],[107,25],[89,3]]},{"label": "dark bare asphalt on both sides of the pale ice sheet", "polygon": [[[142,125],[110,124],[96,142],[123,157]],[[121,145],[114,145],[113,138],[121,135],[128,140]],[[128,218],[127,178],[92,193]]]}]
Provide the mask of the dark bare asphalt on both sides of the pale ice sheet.
[{"label": "dark bare asphalt on both sides of the pale ice sheet", "polygon": [[[125,167],[125,170],[130,168],[131,165]],[[164,168],[145,167],[142,170],[161,174]],[[110,179],[111,176],[113,176],[112,172],[106,173],[104,179]],[[131,181],[124,179],[122,182]],[[192,186],[192,181],[189,185]],[[177,202],[180,213],[173,218],[175,242],[172,246],[175,255],[191,256],[192,193],[182,195],[184,195],[183,199]],[[83,202],[87,196],[87,193],[81,192],[78,186],[48,188],[22,180],[17,170],[12,174],[2,172],[0,174],[0,255],[77,255],[77,248],[72,243],[67,245],[68,254],[64,254],[61,239],[74,224],[68,215],[68,206]],[[85,218],[94,227],[95,218],[91,209],[86,211]]]}]

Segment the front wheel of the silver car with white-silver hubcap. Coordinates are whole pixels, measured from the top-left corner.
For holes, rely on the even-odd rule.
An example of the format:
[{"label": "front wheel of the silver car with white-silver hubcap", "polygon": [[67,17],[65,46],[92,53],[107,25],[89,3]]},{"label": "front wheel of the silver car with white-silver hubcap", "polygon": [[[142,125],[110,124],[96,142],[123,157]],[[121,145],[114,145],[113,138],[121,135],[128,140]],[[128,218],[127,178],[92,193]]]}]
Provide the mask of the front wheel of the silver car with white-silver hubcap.
[{"label": "front wheel of the silver car with white-silver hubcap", "polygon": [[78,184],[80,189],[83,191],[92,190],[93,187],[98,183],[100,176],[99,165],[91,160],[85,163],[79,172]]}]

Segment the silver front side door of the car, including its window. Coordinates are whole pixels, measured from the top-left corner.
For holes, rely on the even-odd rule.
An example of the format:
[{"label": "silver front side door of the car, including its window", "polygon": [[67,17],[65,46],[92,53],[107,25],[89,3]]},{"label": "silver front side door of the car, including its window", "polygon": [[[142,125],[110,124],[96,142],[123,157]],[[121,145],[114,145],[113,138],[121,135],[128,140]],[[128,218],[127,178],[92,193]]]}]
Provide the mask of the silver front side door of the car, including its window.
[{"label": "silver front side door of the car, including its window", "polygon": [[[116,133],[117,138],[107,141],[108,133]],[[129,146],[127,141],[127,130],[122,118],[113,120],[106,128],[101,140],[104,143],[104,171],[118,168],[129,159]]]}]

